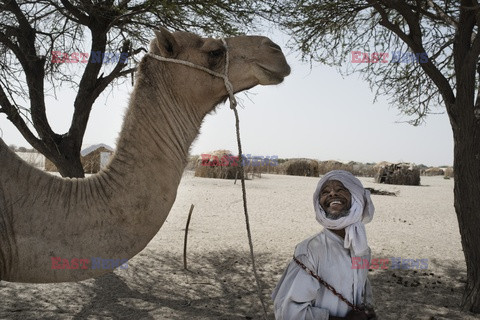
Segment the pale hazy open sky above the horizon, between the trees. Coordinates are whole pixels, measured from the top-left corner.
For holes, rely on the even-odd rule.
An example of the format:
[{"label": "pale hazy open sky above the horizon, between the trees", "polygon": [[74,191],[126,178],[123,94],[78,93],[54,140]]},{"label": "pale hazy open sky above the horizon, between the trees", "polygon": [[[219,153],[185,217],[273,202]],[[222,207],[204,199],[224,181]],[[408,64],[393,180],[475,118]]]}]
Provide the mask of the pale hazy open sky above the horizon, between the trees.
[{"label": "pale hazy open sky above the horizon, between the trees", "polygon": [[[303,63],[298,52],[286,48],[286,36],[269,36],[284,48],[292,73],[280,85],[257,86],[248,94],[237,94],[244,154],[453,164],[452,130],[445,113],[428,116],[424,125],[409,125],[404,122],[408,118],[390,106],[387,97],[373,103],[374,94],[359,74],[343,78],[335,68]],[[97,99],[84,146],[105,143],[115,147],[131,91],[129,84],[124,84],[106,90]],[[68,130],[75,94],[71,89],[61,89],[58,100],[47,100],[47,116],[57,133]],[[0,114],[0,137],[8,145],[29,147],[4,114]],[[234,114],[227,102],[205,118],[190,153],[218,149],[237,153],[236,146]]]}]

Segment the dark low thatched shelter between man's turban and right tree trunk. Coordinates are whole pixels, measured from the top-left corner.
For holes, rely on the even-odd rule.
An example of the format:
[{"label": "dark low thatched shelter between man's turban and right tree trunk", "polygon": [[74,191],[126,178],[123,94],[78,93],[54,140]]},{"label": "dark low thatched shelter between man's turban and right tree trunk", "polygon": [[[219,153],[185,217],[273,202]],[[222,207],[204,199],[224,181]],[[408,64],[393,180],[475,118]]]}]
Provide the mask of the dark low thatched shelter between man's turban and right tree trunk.
[{"label": "dark low thatched shelter between man's turban and right tree trunk", "polygon": [[420,185],[420,170],[410,163],[380,163],[375,182],[398,185]]}]

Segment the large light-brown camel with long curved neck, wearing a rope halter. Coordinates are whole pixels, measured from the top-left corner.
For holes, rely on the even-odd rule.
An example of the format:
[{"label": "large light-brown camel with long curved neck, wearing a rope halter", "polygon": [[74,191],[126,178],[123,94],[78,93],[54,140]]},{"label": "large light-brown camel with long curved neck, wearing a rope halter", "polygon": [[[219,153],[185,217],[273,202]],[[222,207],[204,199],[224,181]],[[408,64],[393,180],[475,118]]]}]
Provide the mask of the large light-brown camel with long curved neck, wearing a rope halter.
[{"label": "large light-brown camel with long curved neck, wearing a rope halter", "polygon": [[[150,53],[218,73],[228,50],[235,93],[279,84],[290,73],[280,47],[266,37],[226,38],[225,47],[187,32],[155,35]],[[146,55],[117,150],[98,174],[53,176],[23,162],[0,139],[0,280],[81,281],[139,253],[167,218],[204,117],[227,97],[223,79]],[[97,258],[110,267],[94,267]]]}]

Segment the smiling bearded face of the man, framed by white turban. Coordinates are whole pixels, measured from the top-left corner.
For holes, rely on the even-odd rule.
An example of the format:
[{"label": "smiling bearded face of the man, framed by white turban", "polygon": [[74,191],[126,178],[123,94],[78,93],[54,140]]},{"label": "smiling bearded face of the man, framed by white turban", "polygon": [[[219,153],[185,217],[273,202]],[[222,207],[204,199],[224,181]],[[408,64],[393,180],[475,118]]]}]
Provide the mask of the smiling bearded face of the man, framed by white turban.
[{"label": "smiling bearded face of the man, framed by white turban", "polygon": [[337,220],[348,215],[352,195],[340,181],[328,180],[320,190],[320,205],[328,219]]}]

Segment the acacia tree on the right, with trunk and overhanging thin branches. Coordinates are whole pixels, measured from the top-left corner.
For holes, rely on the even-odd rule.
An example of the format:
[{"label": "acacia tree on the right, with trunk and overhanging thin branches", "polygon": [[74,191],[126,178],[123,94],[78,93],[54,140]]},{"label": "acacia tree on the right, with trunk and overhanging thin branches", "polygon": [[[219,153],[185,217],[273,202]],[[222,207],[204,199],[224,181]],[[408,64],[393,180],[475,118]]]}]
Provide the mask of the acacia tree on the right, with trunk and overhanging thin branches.
[{"label": "acacia tree on the right, with trunk and overhanging thin branches", "polygon": [[[462,307],[480,313],[478,1],[297,0],[270,5],[270,18],[292,35],[304,58],[347,74],[360,72],[376,96],[388,95],[414,125],[435,108],[446,109],[454,137],[455,211],[467,264]],[[369,63],[345,67],[346,58]]]}]

